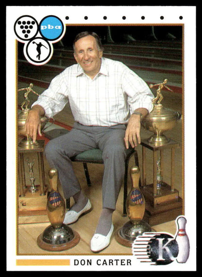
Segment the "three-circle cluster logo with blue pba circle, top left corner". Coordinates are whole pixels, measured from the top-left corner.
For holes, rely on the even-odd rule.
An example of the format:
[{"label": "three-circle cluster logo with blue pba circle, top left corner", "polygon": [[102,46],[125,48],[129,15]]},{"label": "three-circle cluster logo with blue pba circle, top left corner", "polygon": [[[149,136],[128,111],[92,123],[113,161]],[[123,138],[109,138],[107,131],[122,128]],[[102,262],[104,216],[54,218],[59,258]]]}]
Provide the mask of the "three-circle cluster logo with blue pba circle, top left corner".
[{"label": "three-circle cluster logo with blue pba circle, top left corner", "polygon": [[24,43],[24,55],[34,65],[44,65],[53,53],[52,43],[65,34],[65,24],[57,16],[46,16],[40,23],[33,16],[20,16],[14,24],[19,42]]}]

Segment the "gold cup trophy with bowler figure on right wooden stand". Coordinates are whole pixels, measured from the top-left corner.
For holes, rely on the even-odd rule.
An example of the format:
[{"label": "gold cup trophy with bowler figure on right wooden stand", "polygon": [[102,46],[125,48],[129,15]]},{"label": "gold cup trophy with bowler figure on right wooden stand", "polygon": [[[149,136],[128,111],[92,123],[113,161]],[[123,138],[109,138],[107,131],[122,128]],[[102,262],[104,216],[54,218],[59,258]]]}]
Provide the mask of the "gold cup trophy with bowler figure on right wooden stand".
[{"label": "gold cup trophy with bowler figure on right wooden stand", "polygon": [[171,130],[175,126],[176,122],[181,118],[181,113],[165,108],[161,104],[163,99],[162,89],[165,87],[169,91],[172,91],[166,85],[167,82],[168,79],[165,79],[162,83],[150,84],[151,88],[158,86],[158,89],[156,90],[156,97],[153,98],[152,101],[154,108],[152,112],[145,116],[141,121],[142,126],[146,130],[154,133],[148,139],[148,142],[155,146],[162,146],[169,142],[169,139],[163,133],[167,130]]}]

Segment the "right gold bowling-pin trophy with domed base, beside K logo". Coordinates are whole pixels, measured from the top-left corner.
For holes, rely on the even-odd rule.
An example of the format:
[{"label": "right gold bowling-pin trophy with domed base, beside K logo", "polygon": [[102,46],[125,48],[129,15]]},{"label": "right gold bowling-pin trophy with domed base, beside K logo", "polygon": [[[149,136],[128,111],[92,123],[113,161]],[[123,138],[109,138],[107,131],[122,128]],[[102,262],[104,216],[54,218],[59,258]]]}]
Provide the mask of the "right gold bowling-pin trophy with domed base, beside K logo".
[{"label": "right gold bowling-pin trophy with domed base, beside K logo", "polygon": [[139,190],[140,170],[138,166],[130,169],[132,188],[126,199],[126,211],[129,221],[116,233],[116,240],[119,244],[132,247],[135,238],[144,232],[153,231],[150,225],[143,221],[145,213],[145,198]]}]

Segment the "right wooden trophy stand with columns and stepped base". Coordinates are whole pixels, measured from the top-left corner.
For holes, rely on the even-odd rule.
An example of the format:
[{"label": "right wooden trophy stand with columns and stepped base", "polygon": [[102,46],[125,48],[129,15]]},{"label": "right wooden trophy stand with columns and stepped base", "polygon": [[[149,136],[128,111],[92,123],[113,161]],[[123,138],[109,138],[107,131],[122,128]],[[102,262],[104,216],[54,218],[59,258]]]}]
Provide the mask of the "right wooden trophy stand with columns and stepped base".
[{"label": "right wooden trophy stand with columns and stepped base", "polygon": [[[149,224],[157,225],[175,219],[182,214],[182,199],[174,188],[175,148],[178,142],[169,140],[165,145],[156,146],[148,140],[142,140],[142,194],[146,199],[146,217]],[[153,183],[147,184],[147,156],[146,149],[153,153]],[[163,180],[164,150],[170,150],[170,185]],[[159,158],[158,158],[159,152]],[[169,166],[169,165],[167,165]]]}]

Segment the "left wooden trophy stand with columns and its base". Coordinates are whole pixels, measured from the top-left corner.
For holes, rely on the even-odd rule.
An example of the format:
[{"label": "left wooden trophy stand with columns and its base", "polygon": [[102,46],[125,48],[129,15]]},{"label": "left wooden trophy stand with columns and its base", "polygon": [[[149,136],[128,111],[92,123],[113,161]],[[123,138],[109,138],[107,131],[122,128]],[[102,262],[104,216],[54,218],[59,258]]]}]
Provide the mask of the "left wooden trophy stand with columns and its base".
[{"label": "left wooden trophy stand with columns and its base", "polygon": [[[47,201],[47,187],[45,184],[45,173],[44,173],[44,140],[38,141],[37,148],[24,148],[18,146],[18,176],[19,176],[19,195],[18,195],[18,210],[19,215],[26,213],[32,214],[46,212],[46,201]],[[27,156],[32,158],[27,158]],[[27,166],[27,170],[25,168]],[[35,168],[35,172],[34,172]],[[29,181],[27,177],[29,175]],[[38,173],[39,183],[35,184],[35,173]]]}]

